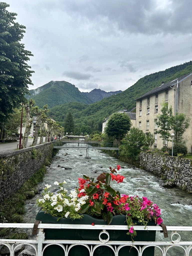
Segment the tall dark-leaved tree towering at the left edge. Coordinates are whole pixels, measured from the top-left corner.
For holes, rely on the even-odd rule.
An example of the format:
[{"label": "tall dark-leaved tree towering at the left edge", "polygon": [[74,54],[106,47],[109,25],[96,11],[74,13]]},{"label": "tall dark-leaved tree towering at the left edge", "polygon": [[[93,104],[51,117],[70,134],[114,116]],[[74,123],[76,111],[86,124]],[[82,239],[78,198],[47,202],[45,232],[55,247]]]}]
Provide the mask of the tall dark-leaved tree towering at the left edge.
[{"label": "tall dark-leaved tree towering at the left edge", "polygon": [[9,4],[0,2],[0,129],[13,109],[21,102],[26,102],[25,94],[29,94],[28,84],[31,82],[28,56],[33,56],[25,50],[20,41],[25,33],[25,26],[15,22],[16,13],[9,13]]}]

